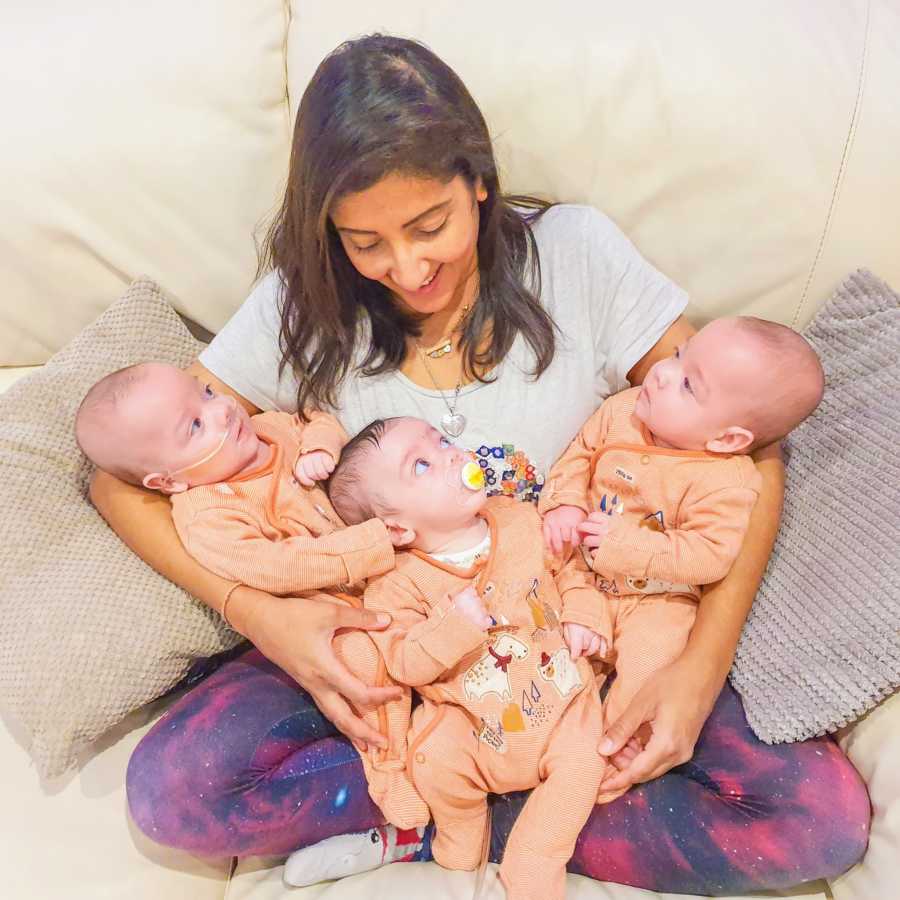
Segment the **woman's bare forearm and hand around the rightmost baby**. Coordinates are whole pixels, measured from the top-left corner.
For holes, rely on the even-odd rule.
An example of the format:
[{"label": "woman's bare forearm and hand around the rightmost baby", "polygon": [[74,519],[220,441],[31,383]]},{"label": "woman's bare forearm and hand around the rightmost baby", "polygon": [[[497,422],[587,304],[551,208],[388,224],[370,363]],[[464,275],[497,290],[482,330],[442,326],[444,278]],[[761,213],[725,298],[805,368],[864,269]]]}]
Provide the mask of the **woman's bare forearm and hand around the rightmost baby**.
[{"label": "woman's bare forearm and hand around the rightmost baby", "polygon": [[604,740],[608,743],[601,749],[613,756],[614,763],[632,735],[639,730],[645,735],[647,726],[652,733],[644,750],[604,781],[604,790],[649,781],[693,755],[700,729],[731,668],[781,518],[784,465],[780,448],[777,444],[762,448],[753,458],[763,486],[741,552],[728,575],[703,591],[681,656],[655,673],[607,729]]}]

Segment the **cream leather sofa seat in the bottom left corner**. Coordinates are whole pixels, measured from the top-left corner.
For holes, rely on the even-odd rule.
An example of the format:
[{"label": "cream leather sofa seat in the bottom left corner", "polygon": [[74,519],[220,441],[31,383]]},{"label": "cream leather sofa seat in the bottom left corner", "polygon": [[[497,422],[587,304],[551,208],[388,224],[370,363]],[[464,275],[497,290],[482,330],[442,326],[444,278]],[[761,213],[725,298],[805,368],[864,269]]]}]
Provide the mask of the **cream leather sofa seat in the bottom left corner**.
[{"label": "cream leather sofa seat in the bottom left corner", "polygon": [[0,717],[0,897],[224,900],[230,859],[167,850],[129,827],[125,767],[158,713],[144,708],[129,716],[81,754],[77,772],[44,782],[19,743],[25,736]]}]

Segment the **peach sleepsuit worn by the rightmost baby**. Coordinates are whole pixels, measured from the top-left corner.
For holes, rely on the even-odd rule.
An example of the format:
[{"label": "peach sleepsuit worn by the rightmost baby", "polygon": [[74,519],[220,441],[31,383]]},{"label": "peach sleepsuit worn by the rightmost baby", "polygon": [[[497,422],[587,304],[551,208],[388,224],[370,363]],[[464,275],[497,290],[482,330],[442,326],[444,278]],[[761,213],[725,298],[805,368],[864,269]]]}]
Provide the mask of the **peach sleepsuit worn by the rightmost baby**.
[{"label": "peach sleepsuit worn by the rightmost baby", "polygon": [[[540,502],[542,514],[569,505],[612,519],[599,548],[581,551],[596,573],[608,609],[605,637],[616,652],[616,678],[604,702],[607,724],[655,671],[681,654],[698,585],[728,573],[760,488],[747,456],[656,446],[634,415],[639,393],[633,388],[610,397],[588,419],[551,470]],[[572,578],[580,591],[579,569]],[[568,570],[559,580],[564,601]]]}]

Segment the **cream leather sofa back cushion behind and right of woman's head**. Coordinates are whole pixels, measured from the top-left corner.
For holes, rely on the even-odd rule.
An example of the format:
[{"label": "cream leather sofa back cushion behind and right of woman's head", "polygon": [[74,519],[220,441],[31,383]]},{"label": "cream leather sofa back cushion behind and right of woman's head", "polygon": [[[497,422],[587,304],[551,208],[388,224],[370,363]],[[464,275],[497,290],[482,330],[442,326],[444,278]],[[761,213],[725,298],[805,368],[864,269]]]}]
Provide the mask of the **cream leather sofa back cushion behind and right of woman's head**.
[{"label": "cream leather sofa back cushion behind and right of woman's head", "polygon": [[348,37],[424,41],[481,107],[506,189],[602,209],[697,325],[803,327],[860,264],[900,285],[892,0],[819,0],[814,21],[807,3],[494,0],[477,27],[444,3],[291,7],[292,111]]}]

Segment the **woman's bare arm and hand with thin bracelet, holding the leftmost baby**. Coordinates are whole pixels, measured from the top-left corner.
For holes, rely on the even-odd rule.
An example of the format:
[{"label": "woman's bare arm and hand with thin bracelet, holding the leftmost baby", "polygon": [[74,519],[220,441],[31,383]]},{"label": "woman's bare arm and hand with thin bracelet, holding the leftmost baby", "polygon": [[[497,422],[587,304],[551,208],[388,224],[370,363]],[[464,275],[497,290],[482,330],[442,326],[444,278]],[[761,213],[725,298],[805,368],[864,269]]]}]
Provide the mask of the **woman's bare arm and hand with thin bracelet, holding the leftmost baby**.
[{"label": "woman's bare arm and hand with thin bracelet, holding the leftmost baby", "polygon": [[[199,363],[187,371],[232,394],[253,413],[256,407],[236,394]],[[228,592],[231,625],[248,637],[272,662],[313,696],[322,712],[351,738],[379,741],[377,731],[353,713],[347,701],[376,705],[397,699],[399,688],[369,688],[354,678],[334,655],[331,640],[338,628],[383,628],[367,610],[321,603],[308,597],[275,597],[213,574],[184,550],[166,497],[125,484],[105,472],[91,481],[91,500],[119,535],[146,563],[217,612]]]}]

